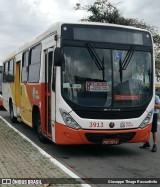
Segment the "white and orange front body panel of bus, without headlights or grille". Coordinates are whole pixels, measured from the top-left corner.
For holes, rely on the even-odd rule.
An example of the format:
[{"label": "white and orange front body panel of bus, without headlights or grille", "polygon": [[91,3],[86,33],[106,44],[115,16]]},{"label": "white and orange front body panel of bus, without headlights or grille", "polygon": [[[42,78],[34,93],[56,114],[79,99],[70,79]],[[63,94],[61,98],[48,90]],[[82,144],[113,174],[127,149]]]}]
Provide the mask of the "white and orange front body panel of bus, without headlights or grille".
[{"label": "white and orange front body panel of bus, without headlights or grille", "polygon": [[[59,72],[59,71],[58,71]],[[57,73],[57,76],[60,75]],[[61,93],[61,86],[57,84],[56,89]],[[55,143],[57,144],[94,144],[87,140],[85,134],[101,136],[103,135],[117,135],[117,134],[126,134],[126,133],[135,133],[134,137],[131,140],[128,140],[127,143],[137,143],[145,142],[150,138],[151,131],[151,122],[144,129],[139,128],[139,125],[147,116],[148,112],[153,112],[154,98],[146,109],[146,112],[143,113],[139,118],[131,119],[120,119],[120,120],[100,120],[100,119],[85,119],[80,118],[72,109],[66,104],[61,94],[56,95],[56,122],[53,124],[55,127]],[[64,124],[62,116],[60,114],[60,108],[65,108],[65,110],[73,117],[73,119],[82,127],[80,130],[75,130],[67,127]],[[113,122],[115,124],[114,128],[110,128],[109,124]],[[95,125],[96,124],[96,125]],[[102,126],[103,124],[103,126]],[[123,124],[123,126],[122,126]],[[101,142],[98,142],[102,144]]]}]

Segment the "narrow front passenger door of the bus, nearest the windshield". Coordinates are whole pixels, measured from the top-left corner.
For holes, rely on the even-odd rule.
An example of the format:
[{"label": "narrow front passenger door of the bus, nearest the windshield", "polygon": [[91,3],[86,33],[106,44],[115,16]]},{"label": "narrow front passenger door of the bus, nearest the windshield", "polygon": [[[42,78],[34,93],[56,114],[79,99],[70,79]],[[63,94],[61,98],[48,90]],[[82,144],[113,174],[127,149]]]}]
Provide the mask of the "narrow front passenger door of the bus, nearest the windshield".
[{"label": "narrow front passenger door of the bus, nearest the windshield", "polygon": [[48,137],[52,137],[51,129],[51,98],[52,85],[52,68],[53,68],[53,48],[45,51],[45,131]]}]

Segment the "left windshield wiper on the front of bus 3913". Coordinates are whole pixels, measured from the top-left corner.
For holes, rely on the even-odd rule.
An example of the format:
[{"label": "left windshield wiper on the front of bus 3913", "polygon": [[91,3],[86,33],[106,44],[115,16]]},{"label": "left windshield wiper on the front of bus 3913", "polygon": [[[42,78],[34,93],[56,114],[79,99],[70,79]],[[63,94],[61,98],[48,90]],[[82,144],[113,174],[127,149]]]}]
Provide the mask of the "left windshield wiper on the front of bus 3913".
[{"label": "left windshield wiper on the front of bus 3913", "polygon": [[103,80],[104,80],[104,70],[105,70],[104,59],[103,59],[103,61],[101,61],[101,59],[99,58],[99,55],[97,54],[93,45],[90,42],[86,43],[86,47],[87,47],[87,50],[88,50],[89,54],[91,55],[93,61],[95,62],[97,68],[102,71]]}]

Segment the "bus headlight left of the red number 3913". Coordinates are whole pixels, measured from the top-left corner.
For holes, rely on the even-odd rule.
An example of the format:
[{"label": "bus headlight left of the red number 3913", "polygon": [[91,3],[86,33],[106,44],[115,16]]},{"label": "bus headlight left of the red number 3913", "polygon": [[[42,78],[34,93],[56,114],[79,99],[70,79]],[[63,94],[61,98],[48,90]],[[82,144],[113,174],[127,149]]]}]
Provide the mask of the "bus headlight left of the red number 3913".
[{"label": "bus headlight left of the red number 3913", "polygon": [[59,110],[63,118],[63,121],[68,127],[71,127],[73,129],[81,129],[81,126],[78,125],[78,123],[72,118],[70,114],[68,114],[65,110],[61,108]]}]

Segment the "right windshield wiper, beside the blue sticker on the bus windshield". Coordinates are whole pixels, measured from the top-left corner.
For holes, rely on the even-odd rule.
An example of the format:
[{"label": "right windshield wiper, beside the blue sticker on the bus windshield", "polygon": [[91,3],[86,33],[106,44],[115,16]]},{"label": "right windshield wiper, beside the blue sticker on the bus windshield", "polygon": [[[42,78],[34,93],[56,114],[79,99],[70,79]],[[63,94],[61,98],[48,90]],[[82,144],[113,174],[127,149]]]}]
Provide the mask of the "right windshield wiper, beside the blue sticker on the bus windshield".
[{"label": "right windshield wiper, beside the blue sticker on the bus windshield", "polygon": [[130,63],[134,50],[135,50],[135,46],[132,46],[131,49],[128,50],[124,60],[122,61],[121,58],[119,60],[119,74],[120,74],[121,84],[123,82],[123,70],[126,70],[128,64]]}]

